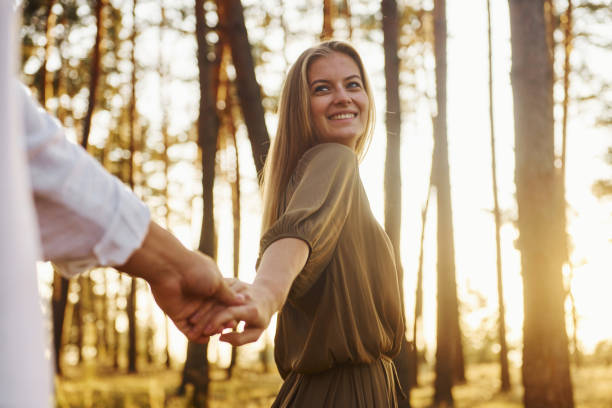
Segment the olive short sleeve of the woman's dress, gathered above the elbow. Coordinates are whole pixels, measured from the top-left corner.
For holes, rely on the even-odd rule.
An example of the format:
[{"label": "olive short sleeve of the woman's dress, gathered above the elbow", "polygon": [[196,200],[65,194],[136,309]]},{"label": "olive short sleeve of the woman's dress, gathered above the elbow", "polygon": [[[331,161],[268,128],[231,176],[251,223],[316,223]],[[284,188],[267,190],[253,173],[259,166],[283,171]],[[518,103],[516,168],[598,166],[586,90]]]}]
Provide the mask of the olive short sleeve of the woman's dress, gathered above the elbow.
[{"label": "olive short sleeve of the woman's dress, gathered above the elbow", "polygon": [[298,238],[308,244],[310,254],[293,283],[293,296],[304,294],[329,264],[358,179],[357,156],[341,144],[319,144],[308,150],[298,163],[288,186],[287,207],[263,234],[260,243],[260,257],[270,244],[281,238]]}]

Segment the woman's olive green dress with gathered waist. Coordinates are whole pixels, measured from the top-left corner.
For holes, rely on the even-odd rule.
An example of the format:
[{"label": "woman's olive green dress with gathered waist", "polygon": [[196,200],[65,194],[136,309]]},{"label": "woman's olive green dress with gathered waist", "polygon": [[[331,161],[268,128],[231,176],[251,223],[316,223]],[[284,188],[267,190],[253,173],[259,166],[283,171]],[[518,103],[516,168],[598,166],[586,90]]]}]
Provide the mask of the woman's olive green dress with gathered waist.
[{"label": "woman's olive green dress with gathered waist", "polygon": [[273,407],[395,407],[391,361],[404,335],[393,249],[375,220],[352,149],[323,143],[300,159],[283,215],[264,233],[299,238],[310,254],[278,315],[285,380]]}]

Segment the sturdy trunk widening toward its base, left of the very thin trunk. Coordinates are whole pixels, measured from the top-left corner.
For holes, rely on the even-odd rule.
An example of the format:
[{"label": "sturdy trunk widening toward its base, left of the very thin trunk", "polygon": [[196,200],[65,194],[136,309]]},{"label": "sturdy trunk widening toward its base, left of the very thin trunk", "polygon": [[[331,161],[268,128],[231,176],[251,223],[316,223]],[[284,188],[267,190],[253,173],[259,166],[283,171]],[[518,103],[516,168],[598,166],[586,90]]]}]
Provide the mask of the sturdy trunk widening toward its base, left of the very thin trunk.
[{"label": "sturdy trunk widening toward its base, left of the very thin trunk", "polygon": [[434,183],[438,207],[438,322],[434,406],[452,406],[454,381],[465,381],[459,326],[455,243],[446,128],[446,4],[434,1],[436,101],[434,120]]}]

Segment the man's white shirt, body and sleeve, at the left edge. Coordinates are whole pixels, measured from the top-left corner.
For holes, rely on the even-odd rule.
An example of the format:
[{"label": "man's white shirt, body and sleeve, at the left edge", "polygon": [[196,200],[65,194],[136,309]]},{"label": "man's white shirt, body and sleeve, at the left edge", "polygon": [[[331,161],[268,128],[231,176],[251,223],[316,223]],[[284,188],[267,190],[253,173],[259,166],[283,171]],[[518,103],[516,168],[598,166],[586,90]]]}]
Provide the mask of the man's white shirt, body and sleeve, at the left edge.
[{"label": "man's white shirt, body and sleeve, at the left edge", "polygon": [[16,82],[14,13],[13,0],[0,0],[0,408],[44,408],[53,402],[40,243],[68,274],[118,265],[142,244],[150,216]]}]

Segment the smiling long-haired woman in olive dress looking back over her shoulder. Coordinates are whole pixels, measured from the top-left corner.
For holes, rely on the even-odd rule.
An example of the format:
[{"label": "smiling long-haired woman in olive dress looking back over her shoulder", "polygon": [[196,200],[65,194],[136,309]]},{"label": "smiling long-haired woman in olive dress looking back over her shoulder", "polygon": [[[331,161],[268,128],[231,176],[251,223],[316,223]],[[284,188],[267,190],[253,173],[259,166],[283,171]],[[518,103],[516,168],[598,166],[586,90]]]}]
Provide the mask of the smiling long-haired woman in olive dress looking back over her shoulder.
[{"label": "smiling long-haired woman in olive dress looking back over her shoulder", "polygon": [[355,49],[329,41],[304,51],[287,75],[264,170],[257,277],[242,287],[249,302],[194,318],[208,323],[205,334],[245,320],[243,332],[221,335],[239,345],[280,310],[275,359],[285,382],[274,407],[393,407],[401,394],[394,255],[358,170],[373,124]]}]

